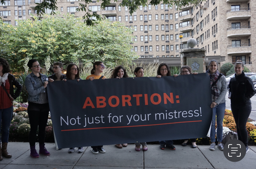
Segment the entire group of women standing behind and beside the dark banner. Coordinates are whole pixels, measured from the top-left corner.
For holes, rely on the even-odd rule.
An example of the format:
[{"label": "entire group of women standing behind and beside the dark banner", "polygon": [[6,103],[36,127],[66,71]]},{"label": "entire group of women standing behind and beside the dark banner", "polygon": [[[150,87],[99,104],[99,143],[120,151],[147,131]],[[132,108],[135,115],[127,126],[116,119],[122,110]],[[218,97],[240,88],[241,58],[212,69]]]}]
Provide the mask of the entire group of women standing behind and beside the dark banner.
[{"label": "entire group of women standing behind and beside the dark banner", "polygon": [[[28,116],[30,123],[29,133],[29,144],[30,144],[30,155],[33,158],[38,158],[39,154],[50,155],[45,148],[45,127],[48,120],[49,114],[49,103],[47,97],[47,84],[58,80],[82,80],[79,76],[79,68],[75,64],[69,64],[66,68],[66,75],[62,74],[63,65],[60,62],[53,63],[54,74],[49,76],[40,73],[40,64],[37,60],[31,59],[28,61],[27,66],[32,70],[25,80],[25,86],[28,91]],[[105,76],[101,75],[105,66],[103,62],[94,62],[91,70],[91,75],[87,76],[86,79],[106,79]],[[223,151],[222,142],[222,122],[225,112],[225,95],[227,92],[227,83],[225,76],[220,74],[218,69],[218,62],[211,60],[208,65],[207,73],[211,80],[211,97],[212,103],[209,105],[212,108],[212,122],[211,122],[211,145],[210,150],[215,150],[215,122],[217,121],[217,147]],[[241,140],[246,147],[246,152],[249,150],[247,143],[247,130],[246,122],[251,112],[251,101],[250,98],[255,94],[253,82],[250,78],[245,76],[242,71],[244,68],[243,63],[238,60],[235,63],[235,77],[229,82],[229,99],[231,99],[231,109],[237,125],[238,139]],[[10,66],[8,62],[0,58],[0,125],[2,124],[2,148],[0,148],[0,160],[2,156],[10,158],[11,155],[7,152],[7,143],[9,136],[9,127],[12,119],[13,105],[12,101],[16,99],[22,91],[22,86],[17,82],[15,77],[10,74]],[[189,66],[181,66],[180,74],[191,74]],[[197,73],[193,73],[197,74]],[[144,76],[143,67],[136,67],[134,70],[136,78]],[[170,67],[166,63],[161,63],[157,70],[157,78],[162,76],[171,76]],[[174,77],[177,77],[175,74]],[[111,75],[111,78],[128,78],[126,69],[122,66],[117,66]],[[14,93],[15,86],[17,89]],[[36,132],[38,128],[38,140],[39,140],[39,154],[36,151]],[[196,139],[191,139],[192,148],[196,148]],[[173,140],[159,141],[160,149],[164,150],[165,145],[171,150],[175,150],[173,146]],[[182,146],[188,144],[188,139],[185,139]],[[143,151],[147,151],[147,143],[135,143],[135,150],[140,151],[141,146]],[[0,145],[1,146],[1,145]],[[127,147],[127,143],[116,144],[118,148]],[[68,152],[74,152],[76,148],[71,147]],[[105,153],[103,145],[92,146],[92,153],[98,154],[98,152]],[[83,152],[83,147],[78,147],[78,152]]]}]

